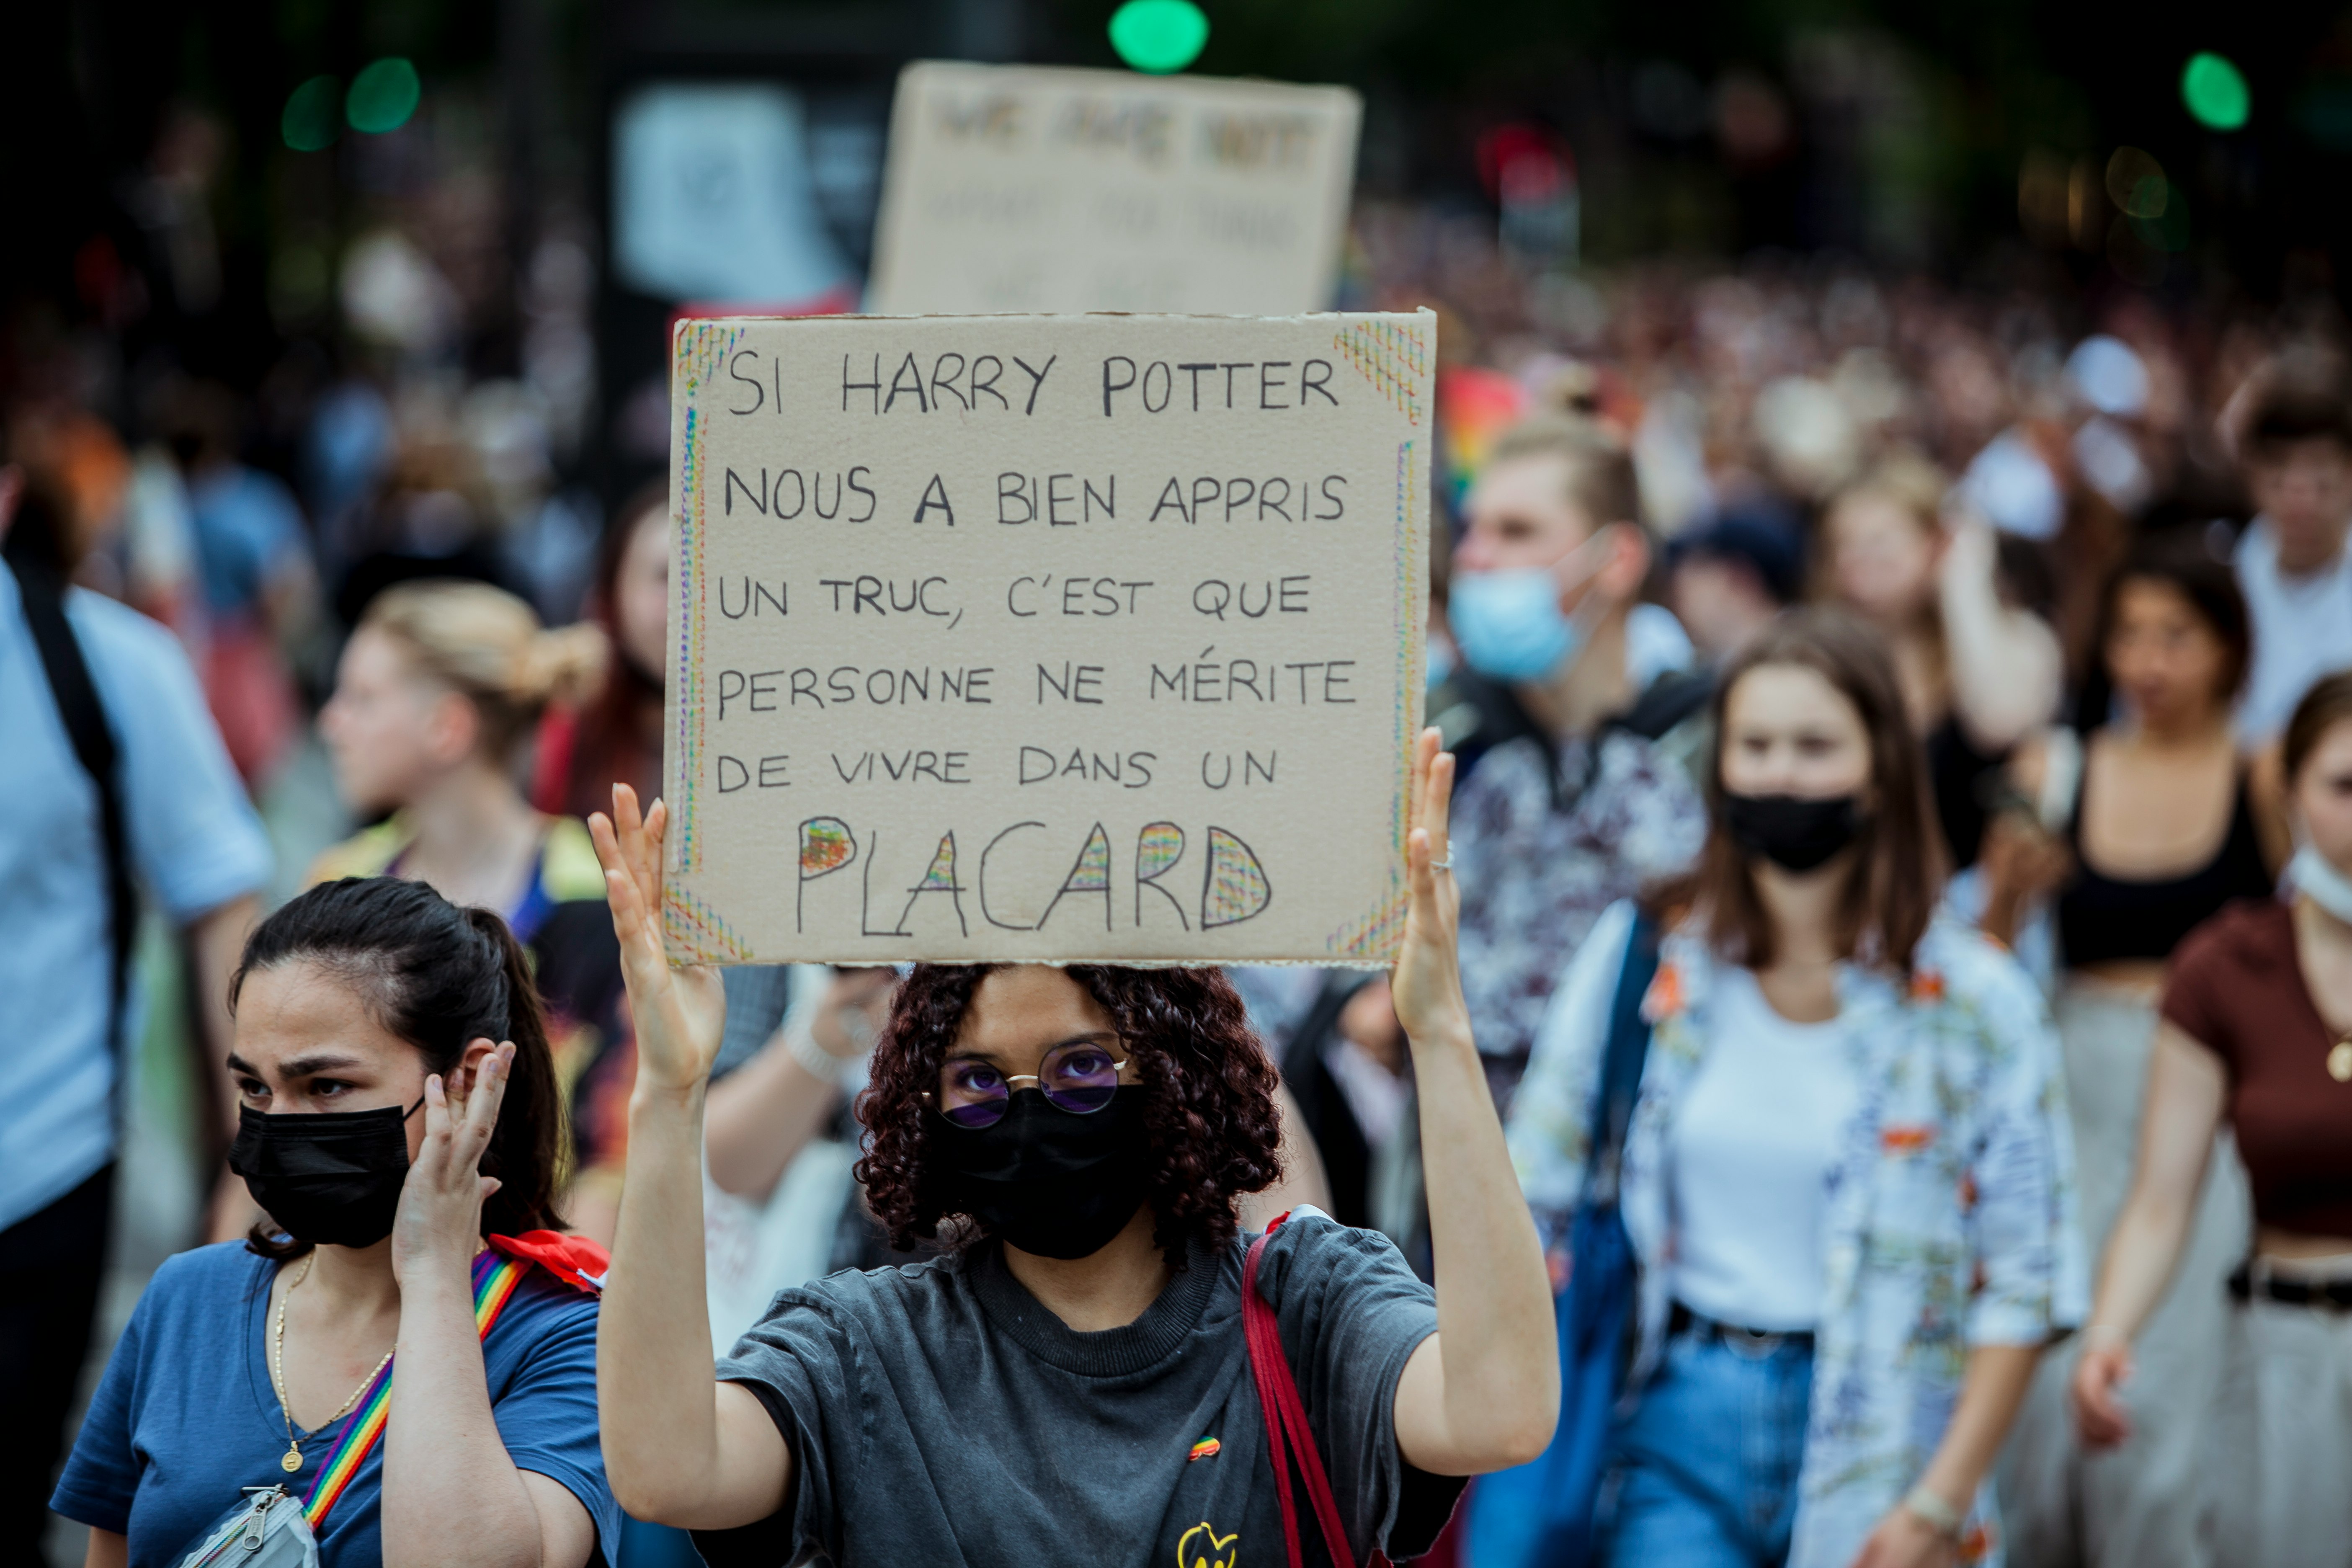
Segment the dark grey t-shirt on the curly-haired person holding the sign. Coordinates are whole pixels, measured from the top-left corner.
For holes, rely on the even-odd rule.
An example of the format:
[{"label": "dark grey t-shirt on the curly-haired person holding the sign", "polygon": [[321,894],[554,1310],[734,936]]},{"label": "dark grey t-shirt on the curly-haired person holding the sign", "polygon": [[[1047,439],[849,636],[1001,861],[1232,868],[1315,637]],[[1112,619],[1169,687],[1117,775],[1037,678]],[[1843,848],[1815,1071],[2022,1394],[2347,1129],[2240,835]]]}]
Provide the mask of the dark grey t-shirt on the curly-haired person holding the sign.
[{"label": "dark grey t-shirt on the curly-haired person holding the sign", "polygon": [[[1242,1338],[1247,1237],[1195,1246],[1124,1328],[1077,1333],[995,1244],[786,1291],[720,1361],[795,1458],[786,1507],[699,1533],[713,1568],[1279,1563],[1282,1512]],[[1294,1213],[1258,1286],[1355,1561],[1418,1556],[1463,1481],[1397,1450],[1397,1375],[1437,1331],[1430,1288],[1369,1229]],[[1214,1441],[1214,1453],[1204,1453]],[[1195,1458],[1197,1455],[1197,1458]],[[1294,1479],[1308,1563],[1322,1537]]]}]

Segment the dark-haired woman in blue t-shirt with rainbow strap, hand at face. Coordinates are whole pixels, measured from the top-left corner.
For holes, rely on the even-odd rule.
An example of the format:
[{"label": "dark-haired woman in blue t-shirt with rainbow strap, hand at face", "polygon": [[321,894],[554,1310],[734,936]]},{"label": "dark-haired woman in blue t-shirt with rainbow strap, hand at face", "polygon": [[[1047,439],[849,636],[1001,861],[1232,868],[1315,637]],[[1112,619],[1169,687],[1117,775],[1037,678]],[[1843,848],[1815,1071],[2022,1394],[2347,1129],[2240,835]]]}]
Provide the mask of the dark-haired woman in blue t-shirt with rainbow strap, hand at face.
[{"label": "dark-haired woman in blue t-shirt with rainbow strap, hand at face", "polygon": [[228,1161],[270,1220],[172,1258],[115,1345],[52,1500],[89,1566],[176,1568],[261,1497],[325,1568],[612,1563],[604,1262],[553,1229],[522,947],[419,882],[332,882],[254,931],[230,1004]]}]

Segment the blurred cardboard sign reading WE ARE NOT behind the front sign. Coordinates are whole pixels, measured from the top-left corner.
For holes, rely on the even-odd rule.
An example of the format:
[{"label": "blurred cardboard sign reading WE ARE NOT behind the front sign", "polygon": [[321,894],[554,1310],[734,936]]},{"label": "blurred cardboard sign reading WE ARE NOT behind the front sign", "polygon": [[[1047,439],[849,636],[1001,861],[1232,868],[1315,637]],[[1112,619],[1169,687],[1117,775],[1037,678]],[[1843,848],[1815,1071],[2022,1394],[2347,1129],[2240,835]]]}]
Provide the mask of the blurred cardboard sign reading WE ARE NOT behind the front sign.
[{"label": "blurred cardboard sign reading WE ARE NOT behind the front sign", "polygon": [[1359,115],[1345,87],[908,66],[866,308],[1324,310]]}]

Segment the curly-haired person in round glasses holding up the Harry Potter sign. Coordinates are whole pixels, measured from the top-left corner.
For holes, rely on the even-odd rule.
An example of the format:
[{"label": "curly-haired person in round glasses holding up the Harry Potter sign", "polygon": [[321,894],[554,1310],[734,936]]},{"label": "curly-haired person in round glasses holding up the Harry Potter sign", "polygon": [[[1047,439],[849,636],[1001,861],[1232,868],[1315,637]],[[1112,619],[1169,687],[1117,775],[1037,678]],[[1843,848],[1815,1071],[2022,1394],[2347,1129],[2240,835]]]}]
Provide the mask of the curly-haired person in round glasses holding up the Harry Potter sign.
[{"label": "curly-haired person in round glasses holding up the Harry Potter sign", "polygon": [[1277,1178],[1275,1072],[1218,971],[917,964],[861,1175],[901,1244],[941,1251],[779,1295],[717,1380],[701,1107],[724,999],[663,952],[666,809],[614,790],[593,827],[640,1070],[597,1373],[623,1505],[713,1563],[1296,1563],[1301,1535],[1355,1563],[1425,1552],[1461,1476],[1541,1453],[1555,1328],[1461,997],[1451,780],[1425,731],[1395,1001],[1444,1291],[1312,1211],[1237,1237],[1240,1194]]}]

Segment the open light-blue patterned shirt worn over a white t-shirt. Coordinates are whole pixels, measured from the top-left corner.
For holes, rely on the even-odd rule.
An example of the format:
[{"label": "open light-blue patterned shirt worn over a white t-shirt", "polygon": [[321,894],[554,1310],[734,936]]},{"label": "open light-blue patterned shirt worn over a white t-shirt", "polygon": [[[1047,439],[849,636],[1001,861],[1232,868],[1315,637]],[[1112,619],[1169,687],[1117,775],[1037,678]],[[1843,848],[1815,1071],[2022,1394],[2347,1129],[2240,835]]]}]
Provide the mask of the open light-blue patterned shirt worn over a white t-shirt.
[{"label": "open light-blue patterned shirt worn over a white t-shirt", "polygon": [[[1630,905],[1592,929],[1512,1105],[1512,1161],[1541,1215],[1571,1211],[1583,1185],[1630,929]],[[1668,933],[1642,1009],[1653,1032],[1621,1175],[1642,1260],[1632,1389],[1658,1363],[1672,1307],[1670,1128],[1717,1044],[1710,992],[1722,964],[1691,929]],[[1973,1347],[2044,1345],[2089,1309],[2058,1039],[2018,964],[1976,931],[1938,922],[1907,978],[1844,964],[1837,1009],[1863,1095],[1828,1175],[1790,1568],[1846,1568],[1919,1483]],[[1990,1488],[1966,1556],[1999,1561]]]}]

